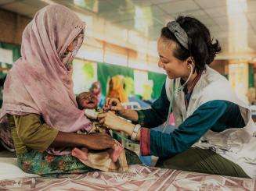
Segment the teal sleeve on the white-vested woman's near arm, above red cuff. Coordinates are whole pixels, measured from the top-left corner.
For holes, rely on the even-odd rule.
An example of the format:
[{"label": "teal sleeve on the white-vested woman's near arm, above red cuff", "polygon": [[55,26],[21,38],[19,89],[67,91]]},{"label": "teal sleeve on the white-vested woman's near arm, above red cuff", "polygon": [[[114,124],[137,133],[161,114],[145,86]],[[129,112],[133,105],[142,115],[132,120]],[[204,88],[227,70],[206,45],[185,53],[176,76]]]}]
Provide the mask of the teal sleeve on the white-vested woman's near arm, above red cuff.
[{"label": "teal sleeve on the white-vested woman's near arm, above red cuff", "polygon": [[[232,112],[231,112],[232,111]],[[239,118],[235,121],[234,118]],[[150,154],[158,157],[170,157],[189,149],[204,136],[207,130],[222,132],[236,126],[244,126],[239,107],[228,101],[209,101],[202,104],[193,115],[175,129],[173,133],[162,133],[150,129]]]}]

